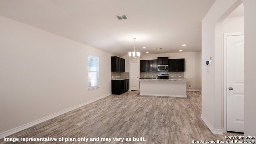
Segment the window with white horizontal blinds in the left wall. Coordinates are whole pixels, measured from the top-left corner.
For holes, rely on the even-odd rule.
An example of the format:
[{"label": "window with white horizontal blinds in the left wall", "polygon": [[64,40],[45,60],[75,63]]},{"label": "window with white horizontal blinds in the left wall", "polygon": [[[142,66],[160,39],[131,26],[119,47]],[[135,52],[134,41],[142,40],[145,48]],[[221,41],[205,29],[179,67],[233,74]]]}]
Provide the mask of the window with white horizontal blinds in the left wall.
[{"label": "window with white horizontal blinds in the left wall", "polygon": [[100,58],[88,56],[88,89],[99,87]]}]

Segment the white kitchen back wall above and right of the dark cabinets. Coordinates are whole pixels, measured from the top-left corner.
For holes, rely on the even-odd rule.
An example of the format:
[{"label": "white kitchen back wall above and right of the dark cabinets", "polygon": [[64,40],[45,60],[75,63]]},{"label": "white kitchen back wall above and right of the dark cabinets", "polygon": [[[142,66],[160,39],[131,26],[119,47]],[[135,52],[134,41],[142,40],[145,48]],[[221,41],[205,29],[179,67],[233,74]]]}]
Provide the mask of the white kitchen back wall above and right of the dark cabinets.
[{"label": "white kitchen back wall above and right of the dark cabinets", "polygon": [[[142,54],[141,60],[152,60],[157,57],[168,56],[172,58],[185,58],[185,72],[184,77],[188,80],[188,90],[201,90],[201,51],[191,53],[166,53],[166,54]],[[188,88],[188,85],[192,85],[192,89]]]}]

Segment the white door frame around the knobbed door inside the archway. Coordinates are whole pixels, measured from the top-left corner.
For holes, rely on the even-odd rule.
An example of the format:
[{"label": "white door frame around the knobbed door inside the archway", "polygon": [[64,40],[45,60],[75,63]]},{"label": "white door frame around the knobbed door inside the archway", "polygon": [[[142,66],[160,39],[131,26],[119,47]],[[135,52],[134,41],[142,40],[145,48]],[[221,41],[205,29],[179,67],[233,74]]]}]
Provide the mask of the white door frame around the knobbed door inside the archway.
[{"label": "white door frame around the knobbed door inside the archway", "polygon": [[223,41],[223,131],[227,132],[227,40],[229,36],[244,35],[244,33],[224,33]]}]

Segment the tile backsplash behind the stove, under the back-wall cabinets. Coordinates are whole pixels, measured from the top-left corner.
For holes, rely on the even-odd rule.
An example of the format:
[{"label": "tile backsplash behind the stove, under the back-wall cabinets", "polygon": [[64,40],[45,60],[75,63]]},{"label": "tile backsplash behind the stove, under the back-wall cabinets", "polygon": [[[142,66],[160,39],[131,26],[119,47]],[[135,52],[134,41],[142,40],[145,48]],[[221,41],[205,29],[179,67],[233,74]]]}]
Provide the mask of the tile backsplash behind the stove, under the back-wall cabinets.
[{"label": "tile backsplash behind the stove, under the back-wall cabinets", "polygon": [[169,78],[182,79],[184,72],[140,72],[140,78],[157,78],[158,74],[169,74]]}]

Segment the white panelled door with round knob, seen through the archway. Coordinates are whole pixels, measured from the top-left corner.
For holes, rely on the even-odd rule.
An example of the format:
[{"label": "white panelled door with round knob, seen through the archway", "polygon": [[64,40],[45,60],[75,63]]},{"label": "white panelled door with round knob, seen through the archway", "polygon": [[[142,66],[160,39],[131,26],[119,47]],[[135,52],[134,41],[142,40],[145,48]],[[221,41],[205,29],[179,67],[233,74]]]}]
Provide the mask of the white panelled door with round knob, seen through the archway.
[{"label": "white panelled door with round knob, seen through the archway", "polygon": [[227,131],[244,132],[244,35],[227,37]]}]

